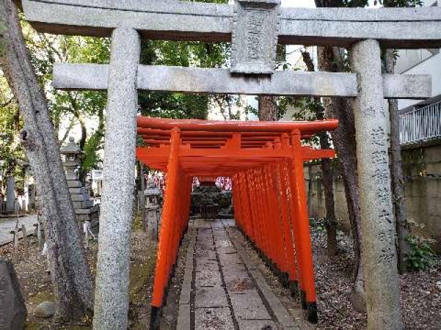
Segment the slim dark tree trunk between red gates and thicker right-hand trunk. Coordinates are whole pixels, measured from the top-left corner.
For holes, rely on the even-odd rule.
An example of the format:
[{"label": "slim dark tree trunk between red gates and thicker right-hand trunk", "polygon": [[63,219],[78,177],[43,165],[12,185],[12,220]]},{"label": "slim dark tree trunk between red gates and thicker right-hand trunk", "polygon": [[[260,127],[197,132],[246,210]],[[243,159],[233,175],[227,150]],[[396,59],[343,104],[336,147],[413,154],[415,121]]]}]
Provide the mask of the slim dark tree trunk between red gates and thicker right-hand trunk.
[{"label": "slim dark tree trunk between red gates and thicker right-hand trunk", "polygon": [[[302,58],[307,66],[309,72],[315,72],[316,67],[311,59],[311,54],[309,52],[302,52]],[[320,101],[320,98],[314,98],[314,103],[316,105],[316,119],[325,119],[325,109]],[[319,135],[320,148],[329,149],[331,144],[329,143],[329,137],[326,132],[322,132]],[[322,184],[325,189],[325,210],[326,210],[326,221],[325,227],[327,232],[327,250],[329,256],[335,256],[337,254],[337,217],[336,217],[336,207],[334,203],[334,175],[332,173],[332,163],[331,159],[325,158],[321,161],[322,168]]]}]

